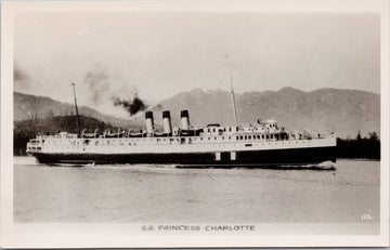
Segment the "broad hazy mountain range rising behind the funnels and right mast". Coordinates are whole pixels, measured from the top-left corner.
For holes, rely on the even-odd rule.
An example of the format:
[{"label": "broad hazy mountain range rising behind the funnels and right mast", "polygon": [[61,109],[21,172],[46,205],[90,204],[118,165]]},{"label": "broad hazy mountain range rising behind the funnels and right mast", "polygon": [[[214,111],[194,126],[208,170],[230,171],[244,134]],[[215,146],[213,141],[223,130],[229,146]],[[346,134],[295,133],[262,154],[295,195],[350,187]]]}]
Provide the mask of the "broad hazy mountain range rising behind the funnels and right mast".
[{"label": "broad hazy mountain range rising behind the funnels and right mast", "polygon": [[[171,110],[178,124],[180,110],[188,109],[194,126],[234,123],[231,93],[195,89],[160,102],[153,108],[157,123],[161,110]],[[380,132],[380,95],[359,90],[318,89],[304,92],[294,88],[278,91],[235,94],[238,122],[253,123],[259,118],[277,119],[287,131],[302,130],[355,137]],[[142,118],[143,119],[143,118]],[[140,121],[139,121],[140,122]]]}]

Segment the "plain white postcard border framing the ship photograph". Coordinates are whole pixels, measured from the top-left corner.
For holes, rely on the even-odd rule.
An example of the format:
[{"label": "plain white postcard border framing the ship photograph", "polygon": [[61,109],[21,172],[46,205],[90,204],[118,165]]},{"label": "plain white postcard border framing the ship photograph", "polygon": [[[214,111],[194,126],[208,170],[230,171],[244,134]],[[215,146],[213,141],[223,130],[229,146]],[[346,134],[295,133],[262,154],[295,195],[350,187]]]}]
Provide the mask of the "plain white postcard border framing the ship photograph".
[{"label": "plain white postcard border framing the ship photograph", "polygon": [[[134,233],[140,224],[13,223],[13,15],[15,11],[379,12],[381,16],[381,165],[379,235],[292,235],[342,224],[261,224],[260,234]],[[162,0],[121,2],[1,2],[1,247],[385,247],[389,246],[389,1],[388,0]],[[271,229],[273,228],[273,229]],[[268,233],[281,232],[282,235]],[[262,232],[262,233],[261,233]],[[298,231],[299,232],[299,231]]]}]

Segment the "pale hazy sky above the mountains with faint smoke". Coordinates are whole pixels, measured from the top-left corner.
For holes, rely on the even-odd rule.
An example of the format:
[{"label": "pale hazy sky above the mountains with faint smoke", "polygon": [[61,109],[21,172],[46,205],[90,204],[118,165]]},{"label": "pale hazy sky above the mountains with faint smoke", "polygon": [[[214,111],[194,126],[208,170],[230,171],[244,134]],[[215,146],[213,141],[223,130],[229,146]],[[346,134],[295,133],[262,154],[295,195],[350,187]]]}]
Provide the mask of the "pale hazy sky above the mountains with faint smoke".
[{"label": "pale hazy sky above the mountains with faint smoke", "polygon": [[21,12],[14,90],[125,114],[113,97],[147,104],[183,91],[292,87],[380,92],[376,13]]}]

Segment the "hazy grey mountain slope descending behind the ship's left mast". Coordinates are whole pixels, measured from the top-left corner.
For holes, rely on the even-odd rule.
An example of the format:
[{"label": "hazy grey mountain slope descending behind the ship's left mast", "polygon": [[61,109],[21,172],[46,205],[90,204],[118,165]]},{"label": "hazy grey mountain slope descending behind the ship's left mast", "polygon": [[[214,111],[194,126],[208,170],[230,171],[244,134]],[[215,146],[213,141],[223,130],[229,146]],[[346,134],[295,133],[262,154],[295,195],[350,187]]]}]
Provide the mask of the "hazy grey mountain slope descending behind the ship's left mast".
[{"label": "hazy grey mountain slope descending behind the ship's left mast", "polygon": [[[62,103],[46,96],[36,96],[14,92],[14,120],[41,119],[53,116],[69,116],[74,115],[75,107],[68,103]],[[120,119],[114,116],[103,115],[95,109],[80,106],[79,114],[95,118],[100,121],[113,124],[120,128],[140,127],[142,124],[134,123],[126,119]]]}]

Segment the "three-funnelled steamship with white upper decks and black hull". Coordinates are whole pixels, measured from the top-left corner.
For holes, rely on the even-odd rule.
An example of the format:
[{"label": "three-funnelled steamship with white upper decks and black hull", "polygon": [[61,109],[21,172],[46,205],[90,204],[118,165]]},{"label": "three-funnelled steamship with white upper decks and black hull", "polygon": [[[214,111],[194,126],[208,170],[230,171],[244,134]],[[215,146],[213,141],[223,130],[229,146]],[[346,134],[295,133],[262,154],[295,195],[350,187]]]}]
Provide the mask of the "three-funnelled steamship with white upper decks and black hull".
[{"label": "three-funnelled steamship with white upper decks and black hull", "polygon": [[[75,90],[75,88],[74,88]],[[75,106],[77,111],[76,92]],[[235,121],[234,92],[232,103]],[[152,111],[145,111],[145,129],[113,133],[60,132],[38,134],[27,153],[48,165],[174,165],[177,167],[297,167],[336,162],[336,135],[287,132],[274,119],[251,124],[193,127],[182,110],[172,128],[169,110],[162,111],[164,131],[156,131]],[[79,121],[78,121],[79,124]]]}]

